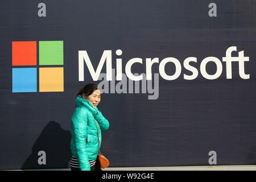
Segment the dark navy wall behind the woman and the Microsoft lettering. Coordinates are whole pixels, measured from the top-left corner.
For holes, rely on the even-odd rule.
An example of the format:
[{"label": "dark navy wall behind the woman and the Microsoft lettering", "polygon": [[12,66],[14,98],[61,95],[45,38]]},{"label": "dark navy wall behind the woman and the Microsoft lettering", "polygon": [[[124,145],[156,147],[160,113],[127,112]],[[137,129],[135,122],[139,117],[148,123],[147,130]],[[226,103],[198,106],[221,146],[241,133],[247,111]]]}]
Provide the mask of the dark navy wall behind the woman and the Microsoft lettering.
[{"label": "dark navy wall behind the woman and the Microsoft lettering", "polygon": [[[46,4],[39,17],[38,4]],[[210,17],[209,3],[217,16]],[[67,168],[71,152],[71,116],[79,88],[94,82],[86,65],[79,81],[79,53],[87,51],[94,69],[104,50],[112,50],[112,66],[122,58],[135,63],[133,73],[146,73],[146,58],[175,57],[181,74],[175,80],[159,75],[159,97],[148,93],[105,93],[98,109],[110,122],[102,133],[102,153],[110,167],[209,165],[209,151],[217,164],[256,163],[256,2],[251,1],[1,1],[0,2],[0,169]],[[12,42],[63,41],[64,92],[12,92]],[[250,61],[244,63],[249,79],[232,63],[226,78],[222,57],[236,46]],[[115,55],[117,49],[122,56]],[[232,56],[238,56],[238,53]],[[217,57],[222,73],[208,80],[200,73],[205,57]],[[183,66],[197,57],[199,75]],[[38,65],[35,66],[38,68]],[[216,64],[207,64],[213,75]],[[167,75],[175,73],[166,64]],[[106,73],[106,65],[102,68]],[[159,64],[152,65],[159,73]],[[38,152],[46,164],[38,164]]]}]

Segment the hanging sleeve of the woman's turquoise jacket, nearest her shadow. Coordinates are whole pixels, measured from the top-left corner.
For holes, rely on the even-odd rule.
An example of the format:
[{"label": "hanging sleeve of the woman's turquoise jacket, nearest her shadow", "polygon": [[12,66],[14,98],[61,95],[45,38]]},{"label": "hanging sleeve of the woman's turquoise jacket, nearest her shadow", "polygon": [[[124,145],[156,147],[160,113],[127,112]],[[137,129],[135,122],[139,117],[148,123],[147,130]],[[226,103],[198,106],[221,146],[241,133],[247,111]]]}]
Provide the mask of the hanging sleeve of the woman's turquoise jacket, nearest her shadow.
[{"label": "hanging sleeve of the woman's turquoise jacket, nearest her shadow", "polygon": [[77,150],[77,158],[81,171],[90,171],[90,164],[86,148],[88,116],[86,110],[77,107],[72,117],[72,130],[75,147]]}]

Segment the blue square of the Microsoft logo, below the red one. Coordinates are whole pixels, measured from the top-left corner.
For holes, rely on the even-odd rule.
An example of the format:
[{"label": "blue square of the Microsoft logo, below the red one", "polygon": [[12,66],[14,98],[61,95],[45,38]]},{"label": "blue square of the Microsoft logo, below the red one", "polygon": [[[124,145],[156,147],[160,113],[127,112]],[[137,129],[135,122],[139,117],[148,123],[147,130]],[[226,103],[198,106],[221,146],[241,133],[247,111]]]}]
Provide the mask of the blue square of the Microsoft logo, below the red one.
[{"label": "blue square of the Microsoft logo, below the red one", "polygon": [[36,68],[13,68],[13,92],[37,92]]}]

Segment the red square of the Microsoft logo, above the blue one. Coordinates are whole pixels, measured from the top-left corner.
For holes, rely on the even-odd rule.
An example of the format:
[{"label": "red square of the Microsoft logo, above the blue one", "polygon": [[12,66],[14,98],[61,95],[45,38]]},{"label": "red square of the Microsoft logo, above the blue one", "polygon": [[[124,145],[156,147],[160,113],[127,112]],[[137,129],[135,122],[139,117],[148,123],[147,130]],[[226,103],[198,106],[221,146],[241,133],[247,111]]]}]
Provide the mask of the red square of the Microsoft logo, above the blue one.
[{"label": "red square of the Microsoft logo, above the blue one", "polygon": [[13,66],[36,65],[36,41],[13,42]]}]

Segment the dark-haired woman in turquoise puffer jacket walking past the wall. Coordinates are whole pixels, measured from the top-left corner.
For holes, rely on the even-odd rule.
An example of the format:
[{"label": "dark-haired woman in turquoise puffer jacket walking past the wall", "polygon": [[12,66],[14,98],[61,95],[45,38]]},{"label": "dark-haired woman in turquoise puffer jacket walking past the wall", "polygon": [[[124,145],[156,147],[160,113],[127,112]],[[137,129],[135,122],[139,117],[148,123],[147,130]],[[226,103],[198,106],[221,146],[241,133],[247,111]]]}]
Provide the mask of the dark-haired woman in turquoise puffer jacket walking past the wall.
[{"label": "dark-haired woman in turquoise puffer jacket walking past the wall", "polygon": [[96,84],[85,85],[77,92],[71,125],[71,171],[101,170],[97,158],[101,131],[109,129],[108,120],[97,109],[101,95]]}]

